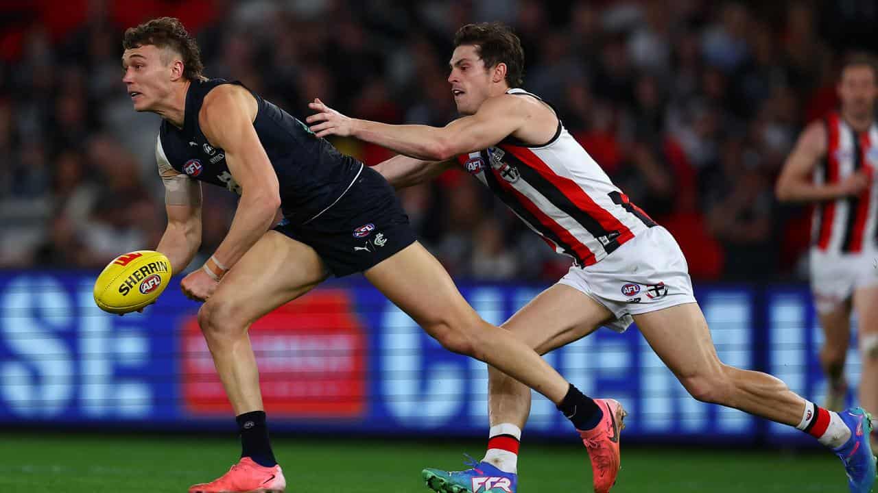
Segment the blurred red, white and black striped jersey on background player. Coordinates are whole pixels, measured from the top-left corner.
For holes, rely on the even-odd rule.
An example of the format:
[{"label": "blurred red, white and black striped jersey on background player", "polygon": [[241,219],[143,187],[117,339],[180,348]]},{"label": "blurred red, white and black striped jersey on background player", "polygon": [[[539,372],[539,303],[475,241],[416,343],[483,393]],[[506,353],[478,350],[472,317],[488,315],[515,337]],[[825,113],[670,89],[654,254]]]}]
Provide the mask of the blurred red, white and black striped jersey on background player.
[{"label": "blurred red, white and black striped jersey on background player", "polygon": [[[838,113],[825,119],[826,156],[814,170],[816,184],[837,183],[860,169],[878,165],[878,125],[856,132]],[[878,187],[872,184],[859,196],[817,204],[812,221],[813,247],[824,252],[859,253],[876,247]]]}]

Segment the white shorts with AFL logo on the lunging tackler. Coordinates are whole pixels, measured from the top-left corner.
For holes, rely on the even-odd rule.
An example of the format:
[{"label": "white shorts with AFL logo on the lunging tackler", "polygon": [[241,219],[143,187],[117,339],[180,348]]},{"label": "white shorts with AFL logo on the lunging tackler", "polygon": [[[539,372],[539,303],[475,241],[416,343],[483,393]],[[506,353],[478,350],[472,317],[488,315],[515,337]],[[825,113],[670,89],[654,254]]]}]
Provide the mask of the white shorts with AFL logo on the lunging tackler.
[{"label": "white shorts with AFL logo on the lunging tackler", "polygon": [[695,303],[686,258],[661,226],[641,232],[594,265],[572,266],[558,284],[579,289],[612,311],[615,320],[604,326],[615,332],[631,325],[631,315]]}]

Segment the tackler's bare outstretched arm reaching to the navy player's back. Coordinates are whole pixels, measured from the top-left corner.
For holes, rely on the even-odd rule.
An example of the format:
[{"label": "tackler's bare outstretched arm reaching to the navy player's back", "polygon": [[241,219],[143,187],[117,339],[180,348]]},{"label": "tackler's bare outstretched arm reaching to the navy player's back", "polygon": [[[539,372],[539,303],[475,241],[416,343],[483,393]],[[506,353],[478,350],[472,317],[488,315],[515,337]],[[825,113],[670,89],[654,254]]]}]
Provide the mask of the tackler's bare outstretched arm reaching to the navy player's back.
[{"label": "tackler's bare outstretched arm reaching to the navy player's back", "polygon": [[320,99],[314,99],[308,106],[317,111],[306,121],[318,137],[350,135],[425,161],[445,161],[457,154],[486,149],[521,128],[530,117],[522,97],[511,95],[490,97],[476,114],[457,118],[443,127],[388,125],[348,118]]}]

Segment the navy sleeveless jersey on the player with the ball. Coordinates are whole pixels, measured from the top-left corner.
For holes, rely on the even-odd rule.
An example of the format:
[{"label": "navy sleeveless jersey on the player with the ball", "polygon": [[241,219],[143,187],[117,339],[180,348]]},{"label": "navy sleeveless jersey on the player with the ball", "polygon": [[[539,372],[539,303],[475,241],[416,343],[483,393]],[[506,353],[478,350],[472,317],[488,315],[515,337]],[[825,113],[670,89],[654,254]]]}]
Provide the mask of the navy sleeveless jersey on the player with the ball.
[{"label": "navy sleeveless jersey on the player with the ball", "polygon": [[[162,120],[158,151],[179,173],[241,194],[241,187],[229,173],[226,156],[211,146],[198,125],[198,113],[205,96],[220,84],[236,84],[224,79],[193,81],[186,92],[183,128]],[[256,134],[269,156],[280,184],[281,208],[292,223],[305,223],[325,211],[342,196],[363,163],[338,152],[326,139],[250,91],[258,110],[253,122]]]}]

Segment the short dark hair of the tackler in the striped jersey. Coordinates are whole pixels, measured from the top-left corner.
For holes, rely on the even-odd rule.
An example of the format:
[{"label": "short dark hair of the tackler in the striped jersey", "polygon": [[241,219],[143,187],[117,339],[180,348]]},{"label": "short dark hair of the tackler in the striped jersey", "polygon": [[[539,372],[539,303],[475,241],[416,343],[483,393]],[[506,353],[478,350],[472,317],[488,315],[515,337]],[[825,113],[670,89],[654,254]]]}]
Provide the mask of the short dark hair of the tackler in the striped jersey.
[{"label": "short dark hair of the tackler in the striped jersey", "polygon": [[522,41],[512,29],[501,22],[467,24],[454,35],[454,47],[476,46],[476,54],[486,68],[506,64],[506,82],[509,87],[520,87],[524,78],[524,50]]}]

